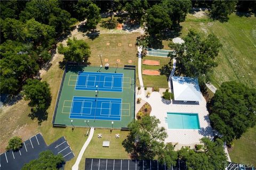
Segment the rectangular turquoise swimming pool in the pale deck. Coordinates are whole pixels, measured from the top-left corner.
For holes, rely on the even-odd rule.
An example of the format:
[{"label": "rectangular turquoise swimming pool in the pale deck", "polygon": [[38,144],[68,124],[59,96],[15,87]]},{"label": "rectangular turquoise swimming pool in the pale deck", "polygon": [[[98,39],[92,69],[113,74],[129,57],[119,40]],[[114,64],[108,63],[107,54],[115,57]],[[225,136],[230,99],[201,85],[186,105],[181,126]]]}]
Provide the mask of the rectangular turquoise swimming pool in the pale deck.
[{"label": "rectangular turquoise swimming pool in the pale deck", "polygon": [[167,113],[168,129],[200,129],[197,113]]}]

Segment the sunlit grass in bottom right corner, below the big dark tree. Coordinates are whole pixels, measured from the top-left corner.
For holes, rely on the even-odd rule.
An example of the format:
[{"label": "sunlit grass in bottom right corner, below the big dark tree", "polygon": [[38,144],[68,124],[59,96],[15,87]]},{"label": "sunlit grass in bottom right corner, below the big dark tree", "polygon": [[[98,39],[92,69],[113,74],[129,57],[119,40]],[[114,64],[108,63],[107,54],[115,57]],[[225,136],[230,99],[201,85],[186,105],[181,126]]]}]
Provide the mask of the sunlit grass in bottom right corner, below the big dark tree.
[{"label": "sunlit grass in bottom right corner, below the big dark tree", "polygon": [[235,147],[229,152],[234,163],[256,166],[256,126],[245,132],[240,139],[234,140]]}]

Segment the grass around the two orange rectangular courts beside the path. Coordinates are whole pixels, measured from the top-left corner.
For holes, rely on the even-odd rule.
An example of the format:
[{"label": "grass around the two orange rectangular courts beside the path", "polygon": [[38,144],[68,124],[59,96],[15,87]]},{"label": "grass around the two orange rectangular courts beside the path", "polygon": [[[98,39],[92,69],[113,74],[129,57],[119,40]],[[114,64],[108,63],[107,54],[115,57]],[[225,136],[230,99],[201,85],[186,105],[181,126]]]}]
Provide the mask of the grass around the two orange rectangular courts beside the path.
[{"label": "grass around the two orange rectangular courts beside the path", "polygon": [[[160,65],[143,65],[142,69],[150,69],[150,70],[158,70],[165,64],[168,64],[170,62],[170,58],[166,57],[155,57],[155,56],[146,56],[143,57],[143,59],[147,60],[159,60]],[[142,60],[143,60],[142,59]],[[161,87],[161,88],[168,88],[168,81],[165,75],[142,75],[143,84],[146,87]]]}]

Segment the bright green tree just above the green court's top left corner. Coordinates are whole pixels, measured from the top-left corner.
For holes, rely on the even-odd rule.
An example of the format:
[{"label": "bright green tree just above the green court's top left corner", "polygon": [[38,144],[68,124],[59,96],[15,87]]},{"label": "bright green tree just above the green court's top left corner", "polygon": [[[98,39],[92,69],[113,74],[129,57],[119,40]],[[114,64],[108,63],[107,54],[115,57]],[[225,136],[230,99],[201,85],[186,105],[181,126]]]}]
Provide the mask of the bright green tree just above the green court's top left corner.
[{"label": "bright green tree just above the green court's top left corner", "polygon": [[77,40],[75,37],[68,39],[67,47],[60,44],[58,52],[64,55],[66,61],[85,64],[91,55],[90,46],[84,40]]}]

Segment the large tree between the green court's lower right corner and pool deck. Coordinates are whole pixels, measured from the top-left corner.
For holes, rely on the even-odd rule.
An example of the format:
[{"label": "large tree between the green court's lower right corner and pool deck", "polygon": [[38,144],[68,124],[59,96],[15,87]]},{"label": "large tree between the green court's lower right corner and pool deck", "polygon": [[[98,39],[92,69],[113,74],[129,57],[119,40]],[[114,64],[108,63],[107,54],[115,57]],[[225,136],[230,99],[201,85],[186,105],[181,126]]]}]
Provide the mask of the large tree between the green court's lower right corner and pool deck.
[{"label": "large tree between the green court's lower right corner and pool deck", "polygon": [[167,137],[165,128],[158,127],[160,121],[155,116],[142,116],[128,125],[130,134],[122,142],[125,150],[134,158],[153,159]]}]

